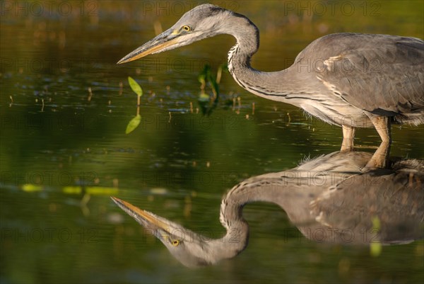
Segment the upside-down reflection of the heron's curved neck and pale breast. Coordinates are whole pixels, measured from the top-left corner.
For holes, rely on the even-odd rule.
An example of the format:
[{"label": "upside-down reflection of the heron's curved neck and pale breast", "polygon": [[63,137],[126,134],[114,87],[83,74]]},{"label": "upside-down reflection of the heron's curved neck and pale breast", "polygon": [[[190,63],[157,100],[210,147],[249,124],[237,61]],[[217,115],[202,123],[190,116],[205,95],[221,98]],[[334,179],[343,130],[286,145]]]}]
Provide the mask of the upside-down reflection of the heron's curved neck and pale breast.
[{"label": "upside-down reflection of the heron's curved neck and pale breast", "polygon": [[[295,225],[310,226],[315,222],[310,215],[310,202],[332,184],[360,173],[369,159],[367,153],[334,152],[290,171],[264,174],[239,183],[221,202],[220,222],[227,234],[222,239],[210,240],[211,262],[229,259],[247,246],[249,227],[242,217],[247,203],[277,204]],[[300,230],[303,232],[302,227]]]}]

